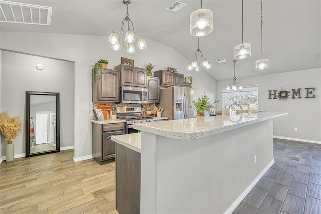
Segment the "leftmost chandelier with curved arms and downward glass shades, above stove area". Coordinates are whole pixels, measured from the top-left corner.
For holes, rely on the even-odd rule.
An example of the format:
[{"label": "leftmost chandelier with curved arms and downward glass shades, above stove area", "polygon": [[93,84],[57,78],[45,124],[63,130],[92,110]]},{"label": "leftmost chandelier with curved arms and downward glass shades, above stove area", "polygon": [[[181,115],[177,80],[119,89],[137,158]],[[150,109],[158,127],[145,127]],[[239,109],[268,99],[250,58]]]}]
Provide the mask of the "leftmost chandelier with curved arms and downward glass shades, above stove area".
[{"label": "leftmost chandelier with curved arms and downward glass shades, above stove area", "polygon": [[[121,23],[121,29],[118,32],[115,32],[115,30],[110,34],[109,36],[109,43],[112,44],[112,49],[113,50],[120,50],[120,44],[119,44],[119,39],[123,40],[125,42],[125,48],[127,49],[127,52],[129,53],[134,53],[135,52],[135,46],[134,46],[134,42],[135,39],[139,39],[137,47],[139,49],[145,49],[146,48],[146,42],[142,37],[138,37],[135,33],[135,29],[134,29],[134,24],[132,23],[132,21],[129,18],[129,14],[128,14],[128,5],[130,4],[131,0],[123,0],[122,1],[125,5],[127,5],[127,13],[126,13],[126,17],[122,20]],[[127,28],[128,31],[124,34],[124,25],[127,24]],[[131,25],[130,25],[131,24]],[[131,28],[131,27],[132,28]],[[131,30],[132,29],[132,30]]]}]

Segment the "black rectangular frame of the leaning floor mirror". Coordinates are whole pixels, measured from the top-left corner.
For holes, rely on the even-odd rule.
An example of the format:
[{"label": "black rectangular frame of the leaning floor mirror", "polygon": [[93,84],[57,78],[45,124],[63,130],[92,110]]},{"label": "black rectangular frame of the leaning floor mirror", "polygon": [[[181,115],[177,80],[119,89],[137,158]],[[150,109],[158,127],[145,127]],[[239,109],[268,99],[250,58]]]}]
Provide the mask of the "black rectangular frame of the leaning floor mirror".
[{"label": "black rectangular frame of the leaning floor mirror", "polygon": [[[31,95],[51,95],[56,97],[56,150],[30,153],[30,96]],[[26,122],[26,157],[32,157],[42,154],[49,154],[60,152],[60,115],[59,115],[59,93],[52,92],[36,92],[36,91],[26,91],[26,112],[25,112],[25,122]]]}]

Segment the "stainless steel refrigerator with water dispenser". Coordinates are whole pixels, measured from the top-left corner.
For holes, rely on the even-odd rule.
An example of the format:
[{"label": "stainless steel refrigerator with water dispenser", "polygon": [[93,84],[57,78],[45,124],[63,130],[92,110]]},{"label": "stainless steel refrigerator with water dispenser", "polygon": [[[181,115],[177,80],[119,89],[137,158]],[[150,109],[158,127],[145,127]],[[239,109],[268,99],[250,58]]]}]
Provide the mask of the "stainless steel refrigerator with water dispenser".
[{"label": "stainless steel refrigerator with water dispenser", "polygon": [[159,106],[164,108],[162,117],[168,117],[169,120],[179,120],[194,117],[192,100],[194,89],[172,86],[161,89],[161,103]]}]

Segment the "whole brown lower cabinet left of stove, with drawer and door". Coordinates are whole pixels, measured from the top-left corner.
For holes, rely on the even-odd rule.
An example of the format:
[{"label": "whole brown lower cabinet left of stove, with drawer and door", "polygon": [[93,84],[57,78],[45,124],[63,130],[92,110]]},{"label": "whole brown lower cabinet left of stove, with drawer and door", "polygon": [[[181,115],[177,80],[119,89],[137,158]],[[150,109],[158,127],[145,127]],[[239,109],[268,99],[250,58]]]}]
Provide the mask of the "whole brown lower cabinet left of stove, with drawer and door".
[{"label": "whole brown lower cabinet left of stove, with drawer and door", "polygon": [[125,123],[97,124],[93,123],[93,158],[104,164],[115,160],[115,142],[112,136],[125,134]]}]

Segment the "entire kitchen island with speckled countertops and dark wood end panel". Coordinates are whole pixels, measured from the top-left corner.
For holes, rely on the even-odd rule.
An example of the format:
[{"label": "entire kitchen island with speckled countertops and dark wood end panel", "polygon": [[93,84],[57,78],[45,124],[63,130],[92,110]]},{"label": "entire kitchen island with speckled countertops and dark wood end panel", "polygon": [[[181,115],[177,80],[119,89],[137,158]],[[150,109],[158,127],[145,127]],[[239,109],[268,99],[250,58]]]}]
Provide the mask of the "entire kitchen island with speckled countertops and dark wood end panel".
[{"label": "entire kitchen island with speckled countertops and dark wood end panel", "polygon": [[232,213],[274,163],[273,118],[286,114],[142,123],[112,137],[117,211]]}]

